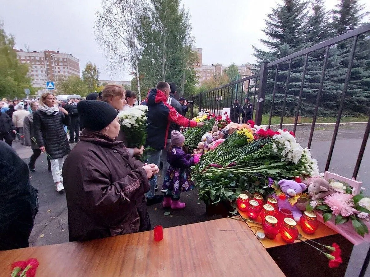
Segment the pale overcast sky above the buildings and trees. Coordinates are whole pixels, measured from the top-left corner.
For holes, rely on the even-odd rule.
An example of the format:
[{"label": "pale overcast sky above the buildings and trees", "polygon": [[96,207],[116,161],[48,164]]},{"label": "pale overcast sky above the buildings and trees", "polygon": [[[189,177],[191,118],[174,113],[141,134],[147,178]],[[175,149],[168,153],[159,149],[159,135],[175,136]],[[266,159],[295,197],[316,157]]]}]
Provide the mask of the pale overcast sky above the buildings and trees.
[{"label": "pale overcast sky above the buildings and trees", "polygon": [[[277,0],[279,1],[279,0]],[[367,3],[366,3],[367,2]],[[326,0],[332,8],[337,0]],[[370,10],[370,1],[366,10]],[[276,0],[182,0],[191,14],[194,47],[203,48],[203,64],[254,62],[251,45],[260,47],[266,14]],[[55,50],[88,61],[100,70],[100,79],[128,81],[126,72],[110,72],[108,60],[94,37],[95,11],[101,0],[0,0],[0,20],[16,47],[30,51]]]}]

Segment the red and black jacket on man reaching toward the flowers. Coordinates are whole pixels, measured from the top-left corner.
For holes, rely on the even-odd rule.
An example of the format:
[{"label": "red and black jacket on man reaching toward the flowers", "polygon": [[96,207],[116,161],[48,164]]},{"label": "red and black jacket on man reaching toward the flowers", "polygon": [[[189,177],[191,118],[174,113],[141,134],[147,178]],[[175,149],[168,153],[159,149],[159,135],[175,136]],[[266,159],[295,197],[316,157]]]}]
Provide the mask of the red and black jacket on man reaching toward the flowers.
[{"label": "red and black jacket on man reaching toward the flowers", "polygon": [[195,127],[196,121],[189,120],[176,112],[175,108],[166,103],[167,97],[161,90],[151,89],[142,104],[148,106],[147,142],[145,146],[162,150],[166,147],[169,124],[176,123],[184,127]]}]

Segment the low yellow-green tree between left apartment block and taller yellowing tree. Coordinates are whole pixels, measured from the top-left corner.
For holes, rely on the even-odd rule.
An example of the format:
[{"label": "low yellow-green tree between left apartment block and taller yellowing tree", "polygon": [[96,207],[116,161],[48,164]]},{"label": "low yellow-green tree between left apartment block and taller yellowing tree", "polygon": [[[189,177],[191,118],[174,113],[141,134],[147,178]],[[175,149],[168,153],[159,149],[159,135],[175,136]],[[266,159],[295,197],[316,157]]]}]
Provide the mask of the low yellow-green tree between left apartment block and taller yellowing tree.
[{"label": "low yellow-green tree between left apartment block and taller yellowing tree", "polygon": [[90,90],[86,83],[81,80],[78,76],[59,77],[55,81],[55,89],[57,94],[79,94],[86,96],[90,93]]}]

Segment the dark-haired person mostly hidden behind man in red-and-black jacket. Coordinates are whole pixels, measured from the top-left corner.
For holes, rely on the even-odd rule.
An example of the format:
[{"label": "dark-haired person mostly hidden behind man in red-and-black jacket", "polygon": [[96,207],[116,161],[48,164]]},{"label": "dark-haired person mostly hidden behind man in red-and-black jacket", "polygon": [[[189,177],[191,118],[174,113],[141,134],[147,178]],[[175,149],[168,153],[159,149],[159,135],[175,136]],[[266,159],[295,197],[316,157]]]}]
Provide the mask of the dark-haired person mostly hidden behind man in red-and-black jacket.
[{"label": "dark-haired person mostly hidden behind man in red-and-black jacket", "polygon": [[[176,100],[175,95],[177,93],[177,87],[175,83],[169,83],[169,87],[171,91],[169,92],[169,98],[167,99],[167,104],[171,105],[175,108],[176,112],[179,114],[182,114],[181,104]],[[184,115],[184,114],[182,114]],[[162,151],[161,153],[161,161],[162,161],[162,172],[163,174],[166,174],[169,168],[169,164],[167,162],[167,151],[169,150],[169,147],[171,146],[171,132],[172,131],[180,131],[180,125],[176,124],[174,122],[171,122],[169,124],[168,129],[168,135],[167,135],[167,144],[166,149]],[[162,192],[165,192],[165,190],[162,188]]]}]

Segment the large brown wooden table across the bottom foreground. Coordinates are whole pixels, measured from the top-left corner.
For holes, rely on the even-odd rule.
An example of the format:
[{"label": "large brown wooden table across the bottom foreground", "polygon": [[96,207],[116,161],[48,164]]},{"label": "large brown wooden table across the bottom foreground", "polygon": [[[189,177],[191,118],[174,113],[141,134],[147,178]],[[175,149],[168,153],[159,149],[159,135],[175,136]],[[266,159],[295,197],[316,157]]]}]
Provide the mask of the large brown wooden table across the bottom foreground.
[{"label": "large brown wooden table across the bottom foreground", "polygon": [[0,251],[0,272],[37,258],[36,276],[284,276],[245,223],[224,218],[90,242]]}]

